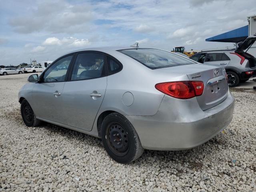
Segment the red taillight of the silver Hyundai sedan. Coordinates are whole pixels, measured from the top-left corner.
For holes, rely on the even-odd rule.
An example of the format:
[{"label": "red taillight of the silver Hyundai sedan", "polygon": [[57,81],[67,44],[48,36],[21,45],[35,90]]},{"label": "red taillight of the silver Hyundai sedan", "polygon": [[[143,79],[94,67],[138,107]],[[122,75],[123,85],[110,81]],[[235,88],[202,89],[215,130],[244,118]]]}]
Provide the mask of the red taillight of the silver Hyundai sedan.
[{"label": "red taillight of the silver Hyundai sedan", "polygon": [[202,81],[176,81],[158,83],[155,88],[164,94],[179,98],[190,99],[200,96],[204,92],[204,82]]}]

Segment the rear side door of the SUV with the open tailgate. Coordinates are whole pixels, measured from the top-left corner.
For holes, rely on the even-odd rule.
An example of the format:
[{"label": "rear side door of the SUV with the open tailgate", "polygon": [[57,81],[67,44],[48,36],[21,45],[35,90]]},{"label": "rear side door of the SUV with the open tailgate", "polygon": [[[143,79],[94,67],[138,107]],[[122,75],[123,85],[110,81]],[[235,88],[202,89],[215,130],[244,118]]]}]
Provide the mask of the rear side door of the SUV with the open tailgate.
[{"label": "rear side door of the SUV with the open tailgate", "polygon": [[224,53],[208,53],[204,60],[204,64],[225,67],[228,65],[229,61],[230,59]]}]

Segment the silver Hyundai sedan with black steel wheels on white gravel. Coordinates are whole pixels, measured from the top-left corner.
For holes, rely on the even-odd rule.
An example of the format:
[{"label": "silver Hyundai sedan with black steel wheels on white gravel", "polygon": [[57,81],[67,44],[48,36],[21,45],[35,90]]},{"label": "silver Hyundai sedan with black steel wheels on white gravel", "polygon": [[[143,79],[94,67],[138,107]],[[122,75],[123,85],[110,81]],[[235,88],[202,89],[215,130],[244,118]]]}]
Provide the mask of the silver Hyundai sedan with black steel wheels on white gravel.
[{"label": "silver Hyundai sedan with black steel wheels on white gravel", "polygon": [[18,95],[27,126],[45,121],[102,138],[120,163],[144,149],[203,144],[234,110],[224,68],[137,45],[70,52],[28,81]]}]

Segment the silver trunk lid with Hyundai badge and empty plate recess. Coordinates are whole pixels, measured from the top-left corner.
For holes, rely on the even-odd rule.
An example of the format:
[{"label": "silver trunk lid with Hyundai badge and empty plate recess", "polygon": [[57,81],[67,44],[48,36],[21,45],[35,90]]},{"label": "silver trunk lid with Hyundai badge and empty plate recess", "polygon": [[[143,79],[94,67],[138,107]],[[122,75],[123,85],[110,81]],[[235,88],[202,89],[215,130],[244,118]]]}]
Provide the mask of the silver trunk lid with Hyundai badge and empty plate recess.
[{"label": "silver trunk lid with Hyundai badge and empty plate recess", "polygon": [[189,64],[158,70],[170,70],[171,73],[186,74],[191,81],[203,81],[204,92],[201,96],[196,97],[202,110],[220,104],[228,95],[228,83],[225,70],[222,67]]}]

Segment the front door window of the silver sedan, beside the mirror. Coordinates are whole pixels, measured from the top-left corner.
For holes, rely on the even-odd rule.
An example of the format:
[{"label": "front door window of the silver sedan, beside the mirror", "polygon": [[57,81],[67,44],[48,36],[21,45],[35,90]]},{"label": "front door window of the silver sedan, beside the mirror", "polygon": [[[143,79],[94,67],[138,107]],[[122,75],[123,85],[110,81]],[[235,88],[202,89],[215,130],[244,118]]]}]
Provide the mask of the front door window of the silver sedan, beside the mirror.
[{"label": "front door window of the silver sedan, beside the mirror", "polygon": [[72,60],[73,55],[61,58],[56,61],[52,66],[48,68],[48,70],[44,73],[44,82],[61,82],[65,80],[66,73],[68,68],[61,68],[59,66],[69,66]]}]

